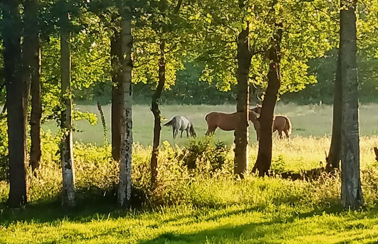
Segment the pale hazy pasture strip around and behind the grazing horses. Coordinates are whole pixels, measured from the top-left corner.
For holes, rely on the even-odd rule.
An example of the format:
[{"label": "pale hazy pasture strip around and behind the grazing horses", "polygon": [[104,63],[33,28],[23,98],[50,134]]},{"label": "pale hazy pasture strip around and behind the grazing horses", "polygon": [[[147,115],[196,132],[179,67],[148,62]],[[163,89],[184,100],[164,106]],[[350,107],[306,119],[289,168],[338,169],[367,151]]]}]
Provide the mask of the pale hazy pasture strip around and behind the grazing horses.
[{"label": "pale hazy pasture strip around and behind the grazing horses", "polygon": [[[82,112],[92,112],[99,117],[96,106],[77,106]],[[204,135],[207,130],[205,115],[212,111],[234,112],[235,105],[162,105],[162,116],[169,120],[174,115],[184,115],[193,121],[198,136]],[[105,121],[107,123],[108,141],[110,141],[110,105],[103,106]],[[297,106],[295,104],[278,104],[275,114],[288,116],[293,124],[293,137],[324,137],[331,135],[332,129],[332,106],[328,105],[307,105]],[[74,140],[82,142],[91,142],[98,145],[103,144],[103,133],[101,122],[91,126],[87,121],[76,121],[75,126],[79,131],[74,134]],[[134,142],[141,145],[152,144],[153,115],[147,105],[133,106],[133,138]],[[48,122],[43,125],[44,130],[56,131],[54,122]],[[185,134],[185,133],[184,133]],[[378,104],[360,106],[360,135],[371,136],[378,135]],[[275,132],[275,136],[278,133]],[[220,140],[231,145],[233,142],[233,132],[221,131],[215,132],[215,140]],[[167,140],[171,144],[184,145],[187,138],[172,138],[172,129],[163,127],[161,131],[161,140]],[[250,142],[256,141],[256,133],[253,127],[250,127]]]}]

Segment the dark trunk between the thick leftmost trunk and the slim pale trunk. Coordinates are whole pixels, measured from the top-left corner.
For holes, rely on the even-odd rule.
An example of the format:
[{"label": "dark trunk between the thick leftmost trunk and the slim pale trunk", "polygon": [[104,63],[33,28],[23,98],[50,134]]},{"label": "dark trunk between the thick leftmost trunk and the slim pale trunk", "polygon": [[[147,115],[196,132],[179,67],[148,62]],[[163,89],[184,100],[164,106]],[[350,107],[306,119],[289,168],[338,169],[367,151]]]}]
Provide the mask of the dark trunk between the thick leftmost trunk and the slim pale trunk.
[{"label": "dark trunk between the thick leftmost trunk and the slim pale trunk", "polygon": [[[29,88],[31,84],[31,115],[30,115],[30,165],[34,172],[39,167],[41,149],[40,149],[40,119],[42,116],[42,106],[40,97],[40,44],[38,34],[38,3],[36,0],[24,1],[24,43],[23,59],[25,71],[27,72],[27,89],[26,97],[29,97]],[[25,112],[27,113],[27,102]],[[26,118],[26,117],[25,117]],[[25,121],[27,122],[27,121]],[[27,129],[27,125],[26,129]]]}]

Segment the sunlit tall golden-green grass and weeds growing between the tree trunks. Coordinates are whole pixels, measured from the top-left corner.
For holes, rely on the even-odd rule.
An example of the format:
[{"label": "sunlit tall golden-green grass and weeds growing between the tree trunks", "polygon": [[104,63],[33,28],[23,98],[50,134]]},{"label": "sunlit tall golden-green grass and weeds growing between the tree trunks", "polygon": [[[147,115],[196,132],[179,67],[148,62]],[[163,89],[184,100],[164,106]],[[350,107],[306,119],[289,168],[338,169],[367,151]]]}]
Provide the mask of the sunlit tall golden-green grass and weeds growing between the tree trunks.
[{"label": "sunlit tall golden-green grass and weeds growing between the tree trunks", "polygon": [[[373,205],[378,198],[378,170],[372,150],[377,145],[377,139],[376,136],[361,138],[363,190],[368,205]],[[319,162],[324,161],[324,150],[328,148],[329,140],[325,137],[274,140],[272,169],[299,172],[319,167]],[[29,172],[30,201],[59,196],[61,170],[57,150],[57,139],[47,134],[43,140],[43,158],[37,177]],[[110,160],[110,150],[108,146],[75,143],[73,152],[79,197],[114,196],[118,165]],[[253,167],[256,154],[257,144],[252,144],[249,170]],[[251,175],[246,180],[234,181],[233,148],[214,145],[207,137],[193,139],[186,147],[163,142],[159,154],[158,187],[152,190],[149,185],[150,156],[150,147],[134,144],[133,184],[146,194],[142,197],[146,197],[151,206],[178,203],[199,206],[242,204],[267,207],[276,203],[317,206],[335,204],[339,198],[338,177],[324,176],[315,182],[292,182]],[[195,164],[194,168],[188,167],[191,162]],[[8,184],[0,182],[1,202],[6,200],[7,192]]]}]

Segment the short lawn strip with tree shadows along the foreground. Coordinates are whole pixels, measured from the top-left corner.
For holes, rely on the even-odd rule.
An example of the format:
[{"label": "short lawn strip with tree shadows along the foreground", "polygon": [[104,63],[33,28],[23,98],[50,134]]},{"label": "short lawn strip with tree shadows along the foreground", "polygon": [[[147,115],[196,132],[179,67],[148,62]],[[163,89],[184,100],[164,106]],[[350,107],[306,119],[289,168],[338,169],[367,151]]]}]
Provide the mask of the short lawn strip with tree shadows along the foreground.
[{"label": "short lawn strip with tree shadows along the foreground", "polygon": [[[155,212],[119,212],[81,206],[29,207],[1,221],[2,244],[376,244],[378,211],[341,212],[289,205],[196,208],[174,206]],[[23,219],[24,216],[33,216]]]}]

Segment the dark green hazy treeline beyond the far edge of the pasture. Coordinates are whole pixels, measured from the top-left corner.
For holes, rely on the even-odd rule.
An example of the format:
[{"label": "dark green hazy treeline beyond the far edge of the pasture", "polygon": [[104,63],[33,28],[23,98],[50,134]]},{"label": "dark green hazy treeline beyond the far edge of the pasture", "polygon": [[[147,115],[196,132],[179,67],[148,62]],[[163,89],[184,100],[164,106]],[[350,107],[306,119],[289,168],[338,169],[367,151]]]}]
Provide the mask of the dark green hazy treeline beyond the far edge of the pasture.
[{"label": "dark green hazy treeline beyond the far edge of the pasture", "polygon": [[[288,92],[281,95],[281,101],[296,104],[316,104],[322,101],[332,104],[337,63],[337,49],[326,53],[324,57],[309,61],[309,73],[317,76],[317,83],[307,85],[299,92]],[[236,85],[231,84],[231,90],[224,92],[218,89],[217,83],[201,81],[204,64],[185,62],[184,69],[176,75],[175,85],[167,87],[161,96],[161,102],[166,104],[222,104],[234,103],[236,99]],[[359,99],[362,103],[378,103],[378,67],[377,58],[359,57]],[[138,83],[134,85],[134,102],[150,104],[151,96],[156,89],[155,82]],[[255,93],[255,94],[253,94]],[[76,102],[80,104],[94,104],[99,100],[101,104],[111,101],[111,83],[98,82],[89,88],[74,91]],[[258,87],[252,87],[251,103],[258,102]],[[88,100],[88,97],[90,99]]]}]

